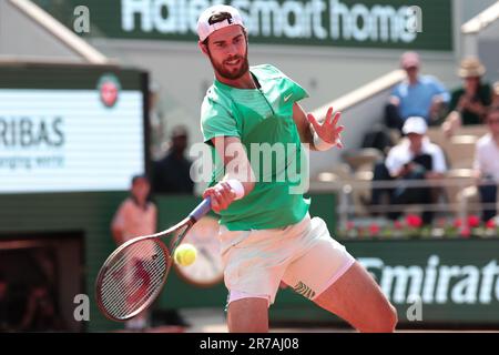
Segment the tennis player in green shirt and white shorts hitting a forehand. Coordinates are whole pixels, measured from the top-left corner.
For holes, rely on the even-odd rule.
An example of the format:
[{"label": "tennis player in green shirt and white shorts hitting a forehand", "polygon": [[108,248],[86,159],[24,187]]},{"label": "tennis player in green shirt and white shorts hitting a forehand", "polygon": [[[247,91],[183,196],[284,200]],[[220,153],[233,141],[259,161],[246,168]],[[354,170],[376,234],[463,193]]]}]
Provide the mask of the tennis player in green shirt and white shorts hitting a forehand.
[{"label": "tennis player in green shirt and white shorts hitting a forehand", "polygon": [[[206,9],[197,34],[215,73],[201,110],[204,141],[217,153],[204,197],[221,215],[230,332],[267,332],[281,282],[360,332],[393,332],[396,311],[374,278],[292,189],[297,182],[289,169],[302,159],[301,143],[318,151],[342,148],[340,113],[330,108],[317,122],[298,104],[307,97],[302,87],[273,65],[249,67],[247,33],[235,8]],[[255,144],[291,144],[295,153],[277,156],[268,173],[259,169],[265,162],[255,162],[262,155]],[[268,179],[283,173],[293,179]]]}]

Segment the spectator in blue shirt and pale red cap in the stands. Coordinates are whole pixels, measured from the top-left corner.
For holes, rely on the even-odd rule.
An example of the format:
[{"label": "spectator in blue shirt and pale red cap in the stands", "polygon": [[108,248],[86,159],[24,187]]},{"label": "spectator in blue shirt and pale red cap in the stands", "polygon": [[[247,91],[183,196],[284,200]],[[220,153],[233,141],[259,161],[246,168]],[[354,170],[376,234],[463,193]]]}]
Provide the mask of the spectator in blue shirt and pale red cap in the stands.
[{"label": "spectator in blue shirt and pale red cap in the stands", "polygon": [[419,75],[420,61],[417,53],[404,53],[400,65],[406,71],[407,79],[391,92],[386,106],[386,125],[401,131],[409,116],[421,116],[427,124],[432,124],[449,103],[449,93],[436,78]]}]

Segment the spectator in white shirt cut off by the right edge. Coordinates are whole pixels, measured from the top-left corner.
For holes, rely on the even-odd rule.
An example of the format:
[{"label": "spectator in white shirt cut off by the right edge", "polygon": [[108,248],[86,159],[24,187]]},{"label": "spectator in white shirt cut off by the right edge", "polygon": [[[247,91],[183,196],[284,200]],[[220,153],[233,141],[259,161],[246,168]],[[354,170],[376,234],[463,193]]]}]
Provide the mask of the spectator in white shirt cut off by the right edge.
[{"label": "spectator in white shirt cut off by the right edge", "polygon": [[492,106],[486,119],[489,132],[477,142],[475,152],[475,172],[480,182],[482,203],[491,204],[482,210],[483,222],[495,217],[497,210],[497,184],[499,183],[499,105]]}]

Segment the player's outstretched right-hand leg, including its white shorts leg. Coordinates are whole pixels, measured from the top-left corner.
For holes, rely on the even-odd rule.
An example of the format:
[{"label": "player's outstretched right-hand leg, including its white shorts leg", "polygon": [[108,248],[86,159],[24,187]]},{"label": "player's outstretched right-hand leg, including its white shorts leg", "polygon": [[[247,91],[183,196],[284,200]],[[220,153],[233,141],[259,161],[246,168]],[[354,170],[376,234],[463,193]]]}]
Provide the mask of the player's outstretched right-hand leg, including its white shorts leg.
[{"label": "player's outstretched right-hand leg, including its white shorts leg", "polygon": [[397,314],[371,275],[313,219],[301,241],[303,254],[283,281],[297,293],[338,315],[360,332],[391,332]]}]

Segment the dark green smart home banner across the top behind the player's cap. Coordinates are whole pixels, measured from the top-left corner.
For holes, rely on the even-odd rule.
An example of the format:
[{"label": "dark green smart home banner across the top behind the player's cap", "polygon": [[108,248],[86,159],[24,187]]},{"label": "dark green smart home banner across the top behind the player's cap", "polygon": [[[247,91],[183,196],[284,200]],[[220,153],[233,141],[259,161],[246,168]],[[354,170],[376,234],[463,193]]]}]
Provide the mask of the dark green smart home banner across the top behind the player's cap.
[{"label": "dark green smart home banner across the top behind the player's cap", "polygon": [[195,41],[203,9],[226,3],[241,10],[254,43],[452,50],[451,0],[34,2],[84,37]]}]

